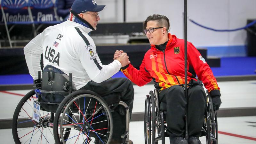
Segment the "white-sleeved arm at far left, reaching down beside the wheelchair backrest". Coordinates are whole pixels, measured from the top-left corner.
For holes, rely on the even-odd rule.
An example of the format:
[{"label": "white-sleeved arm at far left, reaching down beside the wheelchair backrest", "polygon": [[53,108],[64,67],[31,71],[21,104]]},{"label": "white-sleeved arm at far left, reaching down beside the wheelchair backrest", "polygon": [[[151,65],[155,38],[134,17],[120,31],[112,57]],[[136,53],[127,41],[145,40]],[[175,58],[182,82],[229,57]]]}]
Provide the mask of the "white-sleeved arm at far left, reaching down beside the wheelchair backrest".
[{"label": "white-sleeved arm at far left, reaching down beside the wheelchair backrest", "polygon": [[33,38],[25,47],[24,54],[28,65],[29,74],[33,79],[37,79],[37,72],[42,71],[40,66],[42,48],[42,33]]}]

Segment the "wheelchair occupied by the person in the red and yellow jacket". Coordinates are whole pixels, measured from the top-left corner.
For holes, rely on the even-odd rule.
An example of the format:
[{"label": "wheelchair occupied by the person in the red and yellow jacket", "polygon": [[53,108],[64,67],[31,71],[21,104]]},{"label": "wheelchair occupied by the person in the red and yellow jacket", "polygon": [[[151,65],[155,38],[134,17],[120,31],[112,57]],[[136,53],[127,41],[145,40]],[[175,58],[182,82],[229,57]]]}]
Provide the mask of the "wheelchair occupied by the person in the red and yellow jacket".
[{"label": "wheelchair occupied by the person in the red and yellow jacket", "polygon": [[[201,137],[205,136],[207,144],[218,144],[218,121],[217,111],[213,110],[212,98],[206,91],[207,110],[204,115],[204,124],[201,130]],[[145,100],[144,113],[144,138],[145,144],[157,144],[162,140],[165,143],[165,137],[169,137],[166,133],[167,125],[164,114],[166,111],[160,110],[157,89],[150,91]]]}]

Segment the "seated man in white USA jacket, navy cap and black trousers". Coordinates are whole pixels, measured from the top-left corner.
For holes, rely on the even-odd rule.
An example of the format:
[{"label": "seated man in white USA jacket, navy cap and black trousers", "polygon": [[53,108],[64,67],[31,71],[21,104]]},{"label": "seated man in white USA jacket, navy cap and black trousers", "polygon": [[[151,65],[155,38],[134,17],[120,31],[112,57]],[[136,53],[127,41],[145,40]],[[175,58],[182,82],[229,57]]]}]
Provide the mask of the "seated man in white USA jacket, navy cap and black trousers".
[{"label": "seated man in white USA jacket, navy cap and black trousers", "polygon": [[[92,90],[101,96],[119,93],[132,114],[134,90],[126,78],[111,78],[121,67],[130,63],[123,53],[108,65],[102,65],[96,46],[88,33],[96,30],[100,20],[99,13],[105,5],[97,5],[95,0],[76,0],[70,10],[69,19],[50,26],[32,39],[24,53],[29,73],[37,79],[41,71],[40,55],[43,53],[44,68],[53,66],[65,74],[72,73],[73,84],[77,90]],[[125,118],[118,113],[112,114],[114,125],[113,139],[121,143]]]}]

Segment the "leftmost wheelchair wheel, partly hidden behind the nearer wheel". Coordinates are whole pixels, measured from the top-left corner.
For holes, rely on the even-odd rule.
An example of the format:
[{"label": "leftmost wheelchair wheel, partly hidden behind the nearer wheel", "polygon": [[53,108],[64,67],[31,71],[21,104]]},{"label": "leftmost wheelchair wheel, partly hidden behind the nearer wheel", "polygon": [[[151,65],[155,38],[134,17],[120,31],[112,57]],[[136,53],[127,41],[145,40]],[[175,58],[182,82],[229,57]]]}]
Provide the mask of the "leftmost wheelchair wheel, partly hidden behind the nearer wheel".
[{"label": "leftmost wheelchair wheel, partly hidden behind the nearer wheel", "polygon": [[[28,92],[17,105],[12,118],[12,136],[16,144],[20,143],[54,143],[54,113],[40,109],[39,122],[32,119],[33,106],[37,98],[35,91]],[[64,137],[66,137],[68,133]]]}]

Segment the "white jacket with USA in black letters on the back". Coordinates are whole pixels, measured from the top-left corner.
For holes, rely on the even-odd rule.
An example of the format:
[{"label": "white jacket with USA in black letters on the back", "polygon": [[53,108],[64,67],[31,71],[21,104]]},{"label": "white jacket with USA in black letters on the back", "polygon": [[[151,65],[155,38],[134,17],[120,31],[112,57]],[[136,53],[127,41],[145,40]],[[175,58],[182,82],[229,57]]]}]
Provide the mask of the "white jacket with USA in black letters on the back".
[{"label": "white jacket with USA in black letters on the back", "polygon": [[114,60],[102,65],[96,46],[88,36],[90,31],[92,29],[69,20],[46,28],[24,47],[29,74],[37,79],[42,53],[44,67],[52,65],[67,75],[72,73],[77,90],[91,80],[100,83],[116,74],[121,63]]}]

